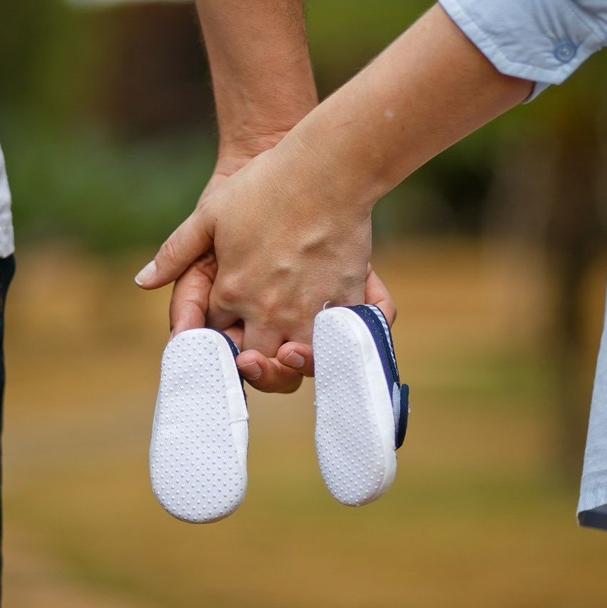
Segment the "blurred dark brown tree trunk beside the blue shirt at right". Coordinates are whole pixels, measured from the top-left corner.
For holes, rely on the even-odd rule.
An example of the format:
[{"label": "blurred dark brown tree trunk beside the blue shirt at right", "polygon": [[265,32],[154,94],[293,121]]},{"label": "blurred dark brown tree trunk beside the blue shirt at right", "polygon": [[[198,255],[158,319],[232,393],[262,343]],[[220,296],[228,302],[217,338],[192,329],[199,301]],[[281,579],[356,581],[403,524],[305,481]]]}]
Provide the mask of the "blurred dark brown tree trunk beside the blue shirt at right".
[{"label": "blurred dark brown tree trunk beside the blue shirt at right", "polygon": [[[538,132],[509,138],[488,206],[490,232],[499,227],[543,252],[549,279],[543,351],[552,369],[556,465],[570,479],[580,472],[592,386],[583,280],[603,238],[604,109],[598,96],[584,93],[561,98]],[[600,332],[596,327],[597,345]]]}]

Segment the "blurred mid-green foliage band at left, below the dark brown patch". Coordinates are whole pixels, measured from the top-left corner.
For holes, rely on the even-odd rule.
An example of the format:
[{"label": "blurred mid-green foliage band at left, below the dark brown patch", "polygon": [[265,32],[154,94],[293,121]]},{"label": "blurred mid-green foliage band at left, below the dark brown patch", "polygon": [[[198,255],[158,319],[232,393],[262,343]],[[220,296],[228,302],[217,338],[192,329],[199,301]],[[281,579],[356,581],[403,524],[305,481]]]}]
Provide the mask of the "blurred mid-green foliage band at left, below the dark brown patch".
[{"label": "blurred mid-green foliage band at left, below the dark brown patch", "polygon": [[14,205],[18,236],[106,253],[160,242],[189,215],[213,167],[213,147],[200,138],[124,144],[92,128],[76,138],[37,133],[11,153],[13,198],[26,202]]}]

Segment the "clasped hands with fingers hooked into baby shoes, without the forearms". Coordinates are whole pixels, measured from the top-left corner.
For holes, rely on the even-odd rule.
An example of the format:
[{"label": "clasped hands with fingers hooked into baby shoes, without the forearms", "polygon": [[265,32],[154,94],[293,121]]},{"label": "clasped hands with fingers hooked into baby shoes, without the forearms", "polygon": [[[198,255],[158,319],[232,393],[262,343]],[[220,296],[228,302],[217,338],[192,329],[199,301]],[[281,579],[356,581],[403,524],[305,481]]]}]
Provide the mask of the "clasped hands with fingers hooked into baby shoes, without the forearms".
[{"label": "clasped hands with fingers hooked into baby shoes, without the forearms", "polygon": [[225,331],[248,382],[287,393],[314,373],[312,322],[325,302],[376,304],[390,324],[396,309],[369,264],[370,214],[340,200],[339,180],[309,146],[282,135],[220,155],[195,211],[136,282],[175,281],[171,337]]}]

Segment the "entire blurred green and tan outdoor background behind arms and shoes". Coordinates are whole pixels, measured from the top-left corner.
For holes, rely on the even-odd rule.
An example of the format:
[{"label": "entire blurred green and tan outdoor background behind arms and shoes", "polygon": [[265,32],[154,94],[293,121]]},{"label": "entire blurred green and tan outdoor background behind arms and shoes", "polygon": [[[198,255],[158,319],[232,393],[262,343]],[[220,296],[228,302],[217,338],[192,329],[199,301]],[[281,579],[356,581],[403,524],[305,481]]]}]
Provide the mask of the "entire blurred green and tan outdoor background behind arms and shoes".
[{"label": "entire blurred green and tan outdoor background behind arms and shoes", "polygon": [[[429,4],[308,1],[321,95]],[[312,382],[250,390],[248,497],[195,527],[148,487],[170,290],[132,283],[213,166],[193,5],[4,0],[1,13],[19,266],[6,606],[607,605],[606,537],[574,519],[607,274],[605,53],[377,206],[374,263],[412,385],[394,488],[361,509],[332,502]]]}]

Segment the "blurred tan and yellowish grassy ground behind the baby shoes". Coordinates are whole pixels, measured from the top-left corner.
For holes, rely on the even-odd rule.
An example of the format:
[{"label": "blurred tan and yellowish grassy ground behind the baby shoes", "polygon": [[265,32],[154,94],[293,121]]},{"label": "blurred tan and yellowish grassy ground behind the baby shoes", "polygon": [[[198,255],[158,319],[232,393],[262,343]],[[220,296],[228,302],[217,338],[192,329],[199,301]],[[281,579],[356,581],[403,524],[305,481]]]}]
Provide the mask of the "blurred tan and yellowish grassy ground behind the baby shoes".
[{"label": "blurred tan and yellowish grassy ground behind the baby shoes", "polygon": [[70,249],[21,254],[7,325],[6,605],[606,604],[604,537],[578,530],[576,482],[554,471],[538,268],[470,242],[379,251],[412,385],[394,487],[338,505],[315,463],[312,383],[249,391],[248,496],[200,527],[165,515],[148,487],[169,297],[132,285],[148,254],[110,265]]}]

